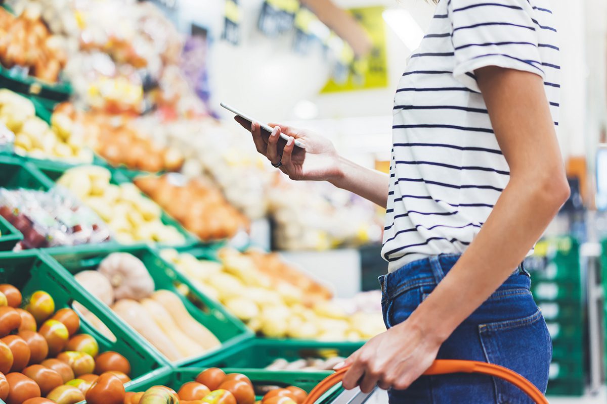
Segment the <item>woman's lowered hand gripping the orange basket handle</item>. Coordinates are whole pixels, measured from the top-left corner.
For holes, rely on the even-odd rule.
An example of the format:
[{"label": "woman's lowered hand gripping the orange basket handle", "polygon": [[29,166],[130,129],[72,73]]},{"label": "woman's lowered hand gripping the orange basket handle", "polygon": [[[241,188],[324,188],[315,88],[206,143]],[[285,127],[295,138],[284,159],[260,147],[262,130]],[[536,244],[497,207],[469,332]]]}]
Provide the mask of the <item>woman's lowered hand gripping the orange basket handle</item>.
[{"label": "woman's lowered hand gripping the orange basket handle", "polygon": [[436,359],[441,340],[422,332],[409,320],[370,339],[344,362],[351,365],[344,375],[346,389],[361,387],[368,393],[382,389],[404,390]]}]

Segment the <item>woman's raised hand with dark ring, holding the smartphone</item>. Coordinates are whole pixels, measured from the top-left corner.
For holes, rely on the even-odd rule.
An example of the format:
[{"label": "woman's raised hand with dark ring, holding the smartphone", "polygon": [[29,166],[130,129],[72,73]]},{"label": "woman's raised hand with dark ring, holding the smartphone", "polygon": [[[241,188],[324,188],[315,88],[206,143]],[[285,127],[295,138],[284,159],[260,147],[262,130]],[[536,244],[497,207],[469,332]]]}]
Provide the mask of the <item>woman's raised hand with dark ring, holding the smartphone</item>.
[{"label": "woman's raised hand with dark ring, holding the smartphone", "polygon": [[[268,157],[273,165],[280,165],[280,170],[293,180],[332,180],[339,176],[339,154],[333,143],[327,138],[311,131],[291,128],[286,125],[270,124],[274,128],[270,137],[262,136],[258,122],[249,122],[236,116],[237,122],[250,130],[253,142],[259,153]],[[287,134],[290,139],[280,138],[280,133]],[[305,149],[296,147],[294,139],[305,144]]]}]

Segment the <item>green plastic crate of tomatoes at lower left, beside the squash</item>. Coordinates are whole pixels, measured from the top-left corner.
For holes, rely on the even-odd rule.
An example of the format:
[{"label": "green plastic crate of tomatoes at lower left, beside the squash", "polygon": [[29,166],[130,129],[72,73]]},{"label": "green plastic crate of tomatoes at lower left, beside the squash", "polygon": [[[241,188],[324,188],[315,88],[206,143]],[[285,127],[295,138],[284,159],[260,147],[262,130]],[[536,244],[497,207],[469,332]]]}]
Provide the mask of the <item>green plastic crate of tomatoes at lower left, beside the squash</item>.
[{"label": "green plastic crate of tomatoes at lower left, beside the squash", "polygon": [[163,371],[169,366],[141,337],[124,329],[107,306],[93,299],[55,260],[39,250],[28,250],[19,254],[0,253],[0,283],[15,285],[21,290],[24,301],[33,292],[44,290],[53,297],[55,310],[71,307],[72,303],[77,301],[95,314],[110,329],[116,340],[111,341],[102,336],[82,318],[79,333],[95,337],[100,352],[116,351],[129,360],[133,379],[129,385],[146,380],[147,377],[153,376],[154,372]]}]

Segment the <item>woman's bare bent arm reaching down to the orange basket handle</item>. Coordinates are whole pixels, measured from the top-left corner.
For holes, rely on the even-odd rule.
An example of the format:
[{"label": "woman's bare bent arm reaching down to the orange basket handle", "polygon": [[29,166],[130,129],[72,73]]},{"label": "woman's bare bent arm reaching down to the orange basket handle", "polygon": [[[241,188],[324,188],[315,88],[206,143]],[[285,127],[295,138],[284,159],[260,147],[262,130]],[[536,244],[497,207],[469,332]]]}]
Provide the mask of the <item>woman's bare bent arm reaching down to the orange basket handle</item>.
[{"label": "woman's bare bent arm reaching down to the orange basket handle", "polygon": [[509,184],[466,252],[409,319],[348,358],[346,388],[407,388],[514,271],[569,196],[541,77],[493,66],[475,73],[510,166]]}]

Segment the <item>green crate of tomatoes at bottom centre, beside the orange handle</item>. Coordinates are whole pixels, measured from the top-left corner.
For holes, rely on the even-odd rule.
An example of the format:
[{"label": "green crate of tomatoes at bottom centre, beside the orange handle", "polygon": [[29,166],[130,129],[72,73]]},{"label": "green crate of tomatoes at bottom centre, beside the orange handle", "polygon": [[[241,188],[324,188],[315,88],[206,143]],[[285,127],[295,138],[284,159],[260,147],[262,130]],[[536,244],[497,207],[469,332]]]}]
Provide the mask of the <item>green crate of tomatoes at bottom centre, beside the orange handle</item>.
[{"label": "green crate of tomatoes at bottom centre, beside the orange handle", "polygon": [[[171,372],[159,374],[154,378],[143,380],[140,383],[134,383],[130,385],[127,391],[146,391],[146,389],[155,386],[162,385],[167,386],[177,391],[181,385],[187,382],[192,382],[196,379],[196,376],[206,368],[177,368]],[[329,376],[331,372],[295,372],[295,371],[266,371],[259,369],[241,369],[241,368],[223,368],[226,374],[229,373],[242,373],[245,374],[256,389],[256,399],[262,399],[260,394],[260,386],[297,386],[310,392],[318,383],[320,383],[325,377]],[[341,383],[337,384],[324,396],[320,397],[317,401],[319,404],[328,404],[333,402],[334,399],[343,391]]]}]

